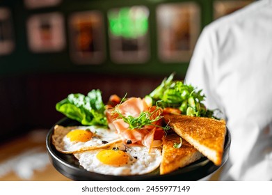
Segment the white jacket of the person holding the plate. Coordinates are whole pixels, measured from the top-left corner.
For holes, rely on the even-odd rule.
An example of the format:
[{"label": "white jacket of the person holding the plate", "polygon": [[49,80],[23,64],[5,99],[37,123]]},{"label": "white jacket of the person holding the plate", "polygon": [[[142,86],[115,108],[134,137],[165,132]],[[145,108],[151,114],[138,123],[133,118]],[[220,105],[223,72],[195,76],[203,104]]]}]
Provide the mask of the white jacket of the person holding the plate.
[{"label": "white jacket of the person holding the plate", "polygon": [[185,82],[203,89],[231,132],[221,180],[272,180],[272,0],[207,25]]}]

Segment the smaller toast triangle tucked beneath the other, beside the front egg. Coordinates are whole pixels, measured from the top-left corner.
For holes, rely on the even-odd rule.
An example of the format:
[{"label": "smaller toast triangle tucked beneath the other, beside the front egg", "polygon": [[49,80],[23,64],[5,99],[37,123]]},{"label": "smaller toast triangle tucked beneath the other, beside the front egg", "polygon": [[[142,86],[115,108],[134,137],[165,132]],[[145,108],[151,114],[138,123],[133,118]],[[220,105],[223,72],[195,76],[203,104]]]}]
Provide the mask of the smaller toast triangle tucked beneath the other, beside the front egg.
[{"label": "smaller toast triangle tucked beneath the other, beside the front egg", "polygon": [[180,139],[181,137],[175,133],[163,138],[162,160],[159,168],[161,175],[189,165],[203,156],[185,139],[182,139],[180,148],[174,148],[174,144],[180,143]]}]

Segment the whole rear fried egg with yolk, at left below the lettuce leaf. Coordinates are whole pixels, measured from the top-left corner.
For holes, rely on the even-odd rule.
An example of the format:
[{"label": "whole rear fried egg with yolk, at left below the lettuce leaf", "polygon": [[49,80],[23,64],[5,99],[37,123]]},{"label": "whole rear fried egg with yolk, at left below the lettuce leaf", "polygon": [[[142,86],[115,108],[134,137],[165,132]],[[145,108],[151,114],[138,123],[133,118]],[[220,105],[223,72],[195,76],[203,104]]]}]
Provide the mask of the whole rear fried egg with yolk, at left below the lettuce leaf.
[{"label": "whole rear fried egg with yolk, at left below the lettuce leaf", "polygon": [[63,127],[56,125],[52,136],[52,143],[61,153],[104,148],[119,141],[121,139],[115,131],[98,126]]}]

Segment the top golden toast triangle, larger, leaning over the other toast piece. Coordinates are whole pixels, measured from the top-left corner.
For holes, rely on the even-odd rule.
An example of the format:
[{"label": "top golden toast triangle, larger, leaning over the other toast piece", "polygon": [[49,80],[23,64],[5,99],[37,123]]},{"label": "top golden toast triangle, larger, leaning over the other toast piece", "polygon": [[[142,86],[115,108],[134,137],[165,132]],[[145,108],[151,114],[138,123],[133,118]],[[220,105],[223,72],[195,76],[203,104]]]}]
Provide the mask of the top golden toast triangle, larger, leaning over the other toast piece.
[{"label": "top golden toast triangle, larger, leaning over the other toast piece", "polygon": [[216,166],[221,165],[227,131],[225,120],[175,114],[167,114],[164,118],[180,137]]}]

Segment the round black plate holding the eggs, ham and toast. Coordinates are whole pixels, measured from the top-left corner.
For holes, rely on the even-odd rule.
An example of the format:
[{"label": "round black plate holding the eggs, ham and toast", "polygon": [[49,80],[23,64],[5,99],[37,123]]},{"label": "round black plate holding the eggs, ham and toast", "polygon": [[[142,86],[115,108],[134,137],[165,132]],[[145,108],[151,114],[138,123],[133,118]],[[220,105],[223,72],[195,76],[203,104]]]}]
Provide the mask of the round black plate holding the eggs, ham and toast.
[{"label": "round black plate holding the eggs, ham and toast", "polygon": [[[58,121],[55,125],[63,125],[63,126],[74,126],[80,125],[77,121],[71,120],[69,118],[63,118]],[[189,166],[185,166],[182,169],[178,169],[177,171],[173,171],[172,173],[168,173],[166,175],[159,175],[159,169],[153,171],[152,173],[147,173],[145,175],[139,176],[110,176],[103,175],[99,173],[93,173],[90,171],[86,171],[82,166],[79,165],[78,160],[73,155],[67,155],[63,153],[59,153],[55,146],[51,143],[51,137],[54,132],[54,126],[51,127],[47,134],[46,146],[49,154],[49,159],[51,163],[54,165],[57,171],[62,173],[67,178],[72,180],[201,180],[212,173],[214,173],[220,166],[215,166],[213,162],[211,162],[206,157],[202,157],[197,162],[190,164]],[[225,146],[223,153],[223,160],[221,166],[225,164],[228,159],[229,151],[230,151],[230,131],[227,130],[227,134],[225,137]]]}]

